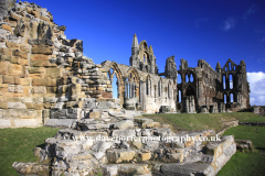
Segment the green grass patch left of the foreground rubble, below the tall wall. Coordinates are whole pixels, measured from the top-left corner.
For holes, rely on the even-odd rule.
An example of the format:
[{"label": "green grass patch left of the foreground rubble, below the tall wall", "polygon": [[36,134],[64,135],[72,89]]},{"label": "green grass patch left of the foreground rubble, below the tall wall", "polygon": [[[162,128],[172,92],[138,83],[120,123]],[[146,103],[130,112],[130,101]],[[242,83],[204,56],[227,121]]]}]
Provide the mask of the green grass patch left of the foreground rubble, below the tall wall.
[{"label": "green grass patch left of the foreground rubble, below the tall wall", "polygon": [[43,145],[44,140],[54,136],[57,130],[44,127],[0,129],[0,175],[18,175],[12,168],[13,162],[38,162],[34,147]]}]

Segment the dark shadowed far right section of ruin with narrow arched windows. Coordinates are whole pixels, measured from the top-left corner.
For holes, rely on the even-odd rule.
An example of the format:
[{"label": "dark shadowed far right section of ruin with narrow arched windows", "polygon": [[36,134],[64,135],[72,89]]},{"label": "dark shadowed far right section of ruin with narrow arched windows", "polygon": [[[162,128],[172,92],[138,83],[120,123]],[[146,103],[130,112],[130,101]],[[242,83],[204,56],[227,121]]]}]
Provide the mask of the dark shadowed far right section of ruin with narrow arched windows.
[{"label": "dark shadowed far right section of ruin with narrow arched windows", "polygon": [[240,110],[250,107],[250,84],[246,80],[245,62],[236,65],[229,58],[215,70],[204,61],[191,68],[181,59],[178,70],[177,109],[182,112],[225,112],[226,109]]}]

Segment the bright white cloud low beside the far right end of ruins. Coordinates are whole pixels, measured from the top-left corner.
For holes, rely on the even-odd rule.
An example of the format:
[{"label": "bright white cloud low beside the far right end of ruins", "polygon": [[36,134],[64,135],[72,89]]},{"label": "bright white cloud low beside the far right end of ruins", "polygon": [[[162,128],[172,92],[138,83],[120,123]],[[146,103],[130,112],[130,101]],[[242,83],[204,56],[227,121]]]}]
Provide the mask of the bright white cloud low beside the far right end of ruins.
[{"label": "bright white cloud low beside the far right end of ruins", "polygon": [[265,106],[265,73],[247,73],[251,87],[251,105]]}]

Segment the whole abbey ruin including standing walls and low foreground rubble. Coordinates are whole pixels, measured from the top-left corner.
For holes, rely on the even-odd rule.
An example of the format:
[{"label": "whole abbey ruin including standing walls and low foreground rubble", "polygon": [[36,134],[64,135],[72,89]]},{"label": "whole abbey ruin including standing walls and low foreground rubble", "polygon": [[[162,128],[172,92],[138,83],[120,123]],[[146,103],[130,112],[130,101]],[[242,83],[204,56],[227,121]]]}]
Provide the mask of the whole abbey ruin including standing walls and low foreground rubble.
[{"label": "whole abbey ruin including standing walls and low foreground rubble", "polygon": [[[0,12],[0,128],[64,128],[34,150],[41,161],[52,158],[51,166],[14,162],[20,175],[85,176],[100,168],[109,176],[212,176],[236,152],[232,135],[205,145],[198,139],[214,131],[174,133],[141,114],[248,108],[244,61],[218,63],[214,70],[203,59],[195,68],[181,59],[178,69],[171,56],[165,73],[158,73],[152,46],[138,43],[135,34],[129,66],[95,64],[83,55],[81,40],[66,38],[66,26],[55,24],[47,9],[2,0]],[[195,140],[172,141],[186,135]],[[82,140],[87,136],[94,140]],[[96,141],[98,136],[134,140]],[[140,141],[158,136],[171,141]]]}]

